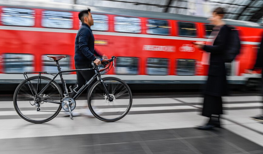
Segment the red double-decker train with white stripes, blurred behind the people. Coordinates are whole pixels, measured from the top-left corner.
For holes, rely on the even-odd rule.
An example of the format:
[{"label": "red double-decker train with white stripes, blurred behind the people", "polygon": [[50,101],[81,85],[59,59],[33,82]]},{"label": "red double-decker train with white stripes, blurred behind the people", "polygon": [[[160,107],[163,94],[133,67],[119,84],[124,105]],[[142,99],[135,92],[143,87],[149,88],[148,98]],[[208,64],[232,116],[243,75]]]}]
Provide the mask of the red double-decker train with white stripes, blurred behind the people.
[{"label": "red double-decker train with white stripes, blurred behind the people", "polygon": [[[69,55],[62,69],[74,68],[74,40],[83,8],[0,6],[0,80],[19,83],[25,71],[56,72],[48,54]],[[206,54],[191,44],[210,41],[213,25],[207,18],[91,7],[96,49],[115,55],[115,68],[105,76],[118,76],[130,84],[201,84],[207,75]],[[228,81],[245,84],[259,74],[244,74],[255,63],[263,29],[252,22],[226,20],[239,30],[241,54],[226,64]],[[258,72],[259,73],[259,72]],[[64,77],[75,82],[75,74]]]}]

